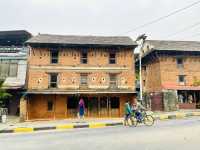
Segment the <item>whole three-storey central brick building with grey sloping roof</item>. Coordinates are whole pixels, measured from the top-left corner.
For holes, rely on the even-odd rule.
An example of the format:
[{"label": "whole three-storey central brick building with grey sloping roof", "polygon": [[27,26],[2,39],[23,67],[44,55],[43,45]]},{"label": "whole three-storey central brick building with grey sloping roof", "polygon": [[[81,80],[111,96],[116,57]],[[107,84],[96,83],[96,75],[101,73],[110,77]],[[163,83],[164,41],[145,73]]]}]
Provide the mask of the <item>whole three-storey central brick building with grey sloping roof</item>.
[{"label": "whole three-storey central brick building with grey sloping roof", "polygon": [[119,117],[135,98],[134,48],[129,37],[37,35],[30,46],[26,119],[77,116],[83,98],[86,117]]}]

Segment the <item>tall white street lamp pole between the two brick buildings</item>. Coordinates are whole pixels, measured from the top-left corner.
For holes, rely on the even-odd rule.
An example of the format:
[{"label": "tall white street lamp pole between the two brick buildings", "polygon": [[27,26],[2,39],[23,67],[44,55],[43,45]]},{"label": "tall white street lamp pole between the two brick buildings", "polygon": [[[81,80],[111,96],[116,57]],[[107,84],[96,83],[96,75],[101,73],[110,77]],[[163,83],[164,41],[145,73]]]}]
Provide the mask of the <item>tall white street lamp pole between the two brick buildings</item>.
[{"label": "tall white street lamp pole between the two brick buildings", "polygon": [[140,101],[143,100],[143,96],[142,96],[142,49],[145,43],[147,36],[145,34],[142,34],[140,36],[137,37],[136,42],[139,45],[139,76],[140,76]]}]

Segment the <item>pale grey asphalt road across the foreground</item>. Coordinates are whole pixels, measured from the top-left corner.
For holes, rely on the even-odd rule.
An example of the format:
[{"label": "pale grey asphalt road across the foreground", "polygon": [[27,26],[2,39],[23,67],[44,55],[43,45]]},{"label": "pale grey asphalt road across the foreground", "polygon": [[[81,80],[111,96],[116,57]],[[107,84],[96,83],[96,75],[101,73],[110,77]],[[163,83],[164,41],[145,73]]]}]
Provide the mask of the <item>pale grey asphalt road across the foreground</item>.
[{"label": "pale grey asphalt road across the foreground", "polygon": [[0,135],[1,150],[199,150],[200,118],[152,127],[107,127]]}]

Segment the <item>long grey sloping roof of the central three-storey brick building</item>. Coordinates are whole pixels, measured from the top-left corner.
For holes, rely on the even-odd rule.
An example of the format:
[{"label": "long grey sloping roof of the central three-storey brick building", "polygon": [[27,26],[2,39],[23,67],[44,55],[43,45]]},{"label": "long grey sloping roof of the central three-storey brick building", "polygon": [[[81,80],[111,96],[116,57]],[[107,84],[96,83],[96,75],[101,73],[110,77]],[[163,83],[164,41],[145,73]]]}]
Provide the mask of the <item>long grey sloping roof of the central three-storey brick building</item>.
[{"label": "long grey sloping roof of the central three-storey brick building", "polygon": [[29,44],[74,44],[74,45],[122,45],[136,46],[137,44],[127,36],[64,36],[39,34],[29,39]]}]

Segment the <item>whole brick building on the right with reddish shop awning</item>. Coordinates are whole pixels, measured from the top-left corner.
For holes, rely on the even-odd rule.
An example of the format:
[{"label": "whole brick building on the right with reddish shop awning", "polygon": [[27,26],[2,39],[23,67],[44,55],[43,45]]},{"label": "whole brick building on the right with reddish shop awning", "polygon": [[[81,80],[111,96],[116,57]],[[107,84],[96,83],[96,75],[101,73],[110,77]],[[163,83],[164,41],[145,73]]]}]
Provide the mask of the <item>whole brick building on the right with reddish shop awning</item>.
[{"label": "whole brick building on the right with reddish shop awning", "polygon": [[199,108],[200,42],[152,40],[143,53],[143,86],[153,110]]}]

